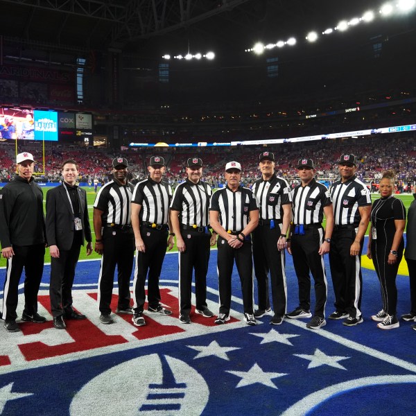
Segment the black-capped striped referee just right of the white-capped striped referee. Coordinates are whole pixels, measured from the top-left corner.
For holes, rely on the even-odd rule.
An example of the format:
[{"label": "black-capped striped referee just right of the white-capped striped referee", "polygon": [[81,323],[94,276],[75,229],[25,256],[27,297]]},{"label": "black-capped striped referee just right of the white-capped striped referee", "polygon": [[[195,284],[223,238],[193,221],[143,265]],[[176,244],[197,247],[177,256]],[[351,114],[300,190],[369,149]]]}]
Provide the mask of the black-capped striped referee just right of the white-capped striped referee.
[{"label": "black-capped striped referee just right of the white-capped striped referee", "polygon": [[261,179],[254,182],[252,191],[260,207],[259,226],[253,232],[254,272],[257,279],[259,309],[254,318],[270,315],[268,272],[272,284],[274,316],[270,324],[279,325],[286,313],[286,234],[291,223],[291,191],[288,182],[275,173],[275,155],[259,155]]}]

